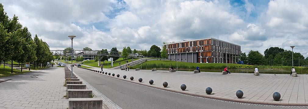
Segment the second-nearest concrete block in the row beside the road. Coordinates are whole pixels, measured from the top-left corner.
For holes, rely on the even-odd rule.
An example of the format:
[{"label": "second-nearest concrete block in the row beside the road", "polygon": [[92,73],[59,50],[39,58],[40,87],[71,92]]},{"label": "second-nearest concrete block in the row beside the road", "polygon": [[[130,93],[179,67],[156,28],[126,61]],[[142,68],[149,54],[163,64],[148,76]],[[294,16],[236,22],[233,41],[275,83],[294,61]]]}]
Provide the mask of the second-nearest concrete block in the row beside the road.
[{"label": "second-nearest concrete block in the row beside the road", "polygon": [[90,98],[92,96],[91,89],[68,89],[67,98]]}]

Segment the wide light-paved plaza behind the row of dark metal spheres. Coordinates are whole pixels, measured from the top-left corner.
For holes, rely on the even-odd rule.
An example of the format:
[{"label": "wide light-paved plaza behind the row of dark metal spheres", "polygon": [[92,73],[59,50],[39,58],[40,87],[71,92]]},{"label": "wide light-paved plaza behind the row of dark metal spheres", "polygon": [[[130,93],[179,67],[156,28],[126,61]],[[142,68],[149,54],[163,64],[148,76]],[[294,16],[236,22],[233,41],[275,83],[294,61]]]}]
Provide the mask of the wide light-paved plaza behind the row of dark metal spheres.
[{"label": "wide light-paved plaza behind the row of dark metal spheres", "polygon": [[[100,70],[95,68],[95,70]],[[108,73],[120,74],[134,77],[134,82],[142,78],[141,84],[149,85],[148,81],[153,80],[154,87],[163,88],[163,82],[168,82],[165,89],[180,91],[184,93],[223,98],[226,100],[249,101],[256,103],[282,103],[282,104],[304,104],[308,103],[308,75],[298,75],[292,77],[289,74],[260,74],[254,76],[252,73],[231,73],[222,75],[221,73],[201,72],[193,73],[187,71],[151,71],[151,70],[107,70]],[[115,76],[115,78],[117,78]],[[138,82],[139,83],[139,82]],[[180,86],[185,84],[187,89],[182,91]],[[207,95],[205,89],[211,87],[212,95]],[[235,95],[237,90],[242,90],[244,96],[239,99]],[[273,93],[279,92],[281,99],[273,100]]]}]

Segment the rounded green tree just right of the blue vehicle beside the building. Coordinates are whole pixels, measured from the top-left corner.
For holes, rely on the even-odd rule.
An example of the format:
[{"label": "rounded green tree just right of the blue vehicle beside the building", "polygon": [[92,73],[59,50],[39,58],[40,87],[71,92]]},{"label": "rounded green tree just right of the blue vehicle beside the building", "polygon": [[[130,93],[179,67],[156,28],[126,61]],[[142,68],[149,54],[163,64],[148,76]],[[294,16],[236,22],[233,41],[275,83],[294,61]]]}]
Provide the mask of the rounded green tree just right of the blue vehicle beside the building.
[{"label": "rounded green tree just right of the blue vehicle beside the building", "polygon": [[262,65],[265,62],[265,58],[259,51],[250,50],[248,53],[248,62],[252,65]]}]

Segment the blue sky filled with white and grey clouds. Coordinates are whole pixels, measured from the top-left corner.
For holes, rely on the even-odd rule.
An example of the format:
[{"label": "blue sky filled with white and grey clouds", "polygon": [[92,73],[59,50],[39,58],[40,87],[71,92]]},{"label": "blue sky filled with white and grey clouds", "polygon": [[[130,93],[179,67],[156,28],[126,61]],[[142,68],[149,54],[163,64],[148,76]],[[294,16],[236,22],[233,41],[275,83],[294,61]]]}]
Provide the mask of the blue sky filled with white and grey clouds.
[{"label": "blue sky filled with white and grey clouds", "polygon": [[269,47],[308,56],[307,0],[0,0],[32,36],[51,50],[124,46],[146,49],[163,42],[213,37],[241,51]]}]

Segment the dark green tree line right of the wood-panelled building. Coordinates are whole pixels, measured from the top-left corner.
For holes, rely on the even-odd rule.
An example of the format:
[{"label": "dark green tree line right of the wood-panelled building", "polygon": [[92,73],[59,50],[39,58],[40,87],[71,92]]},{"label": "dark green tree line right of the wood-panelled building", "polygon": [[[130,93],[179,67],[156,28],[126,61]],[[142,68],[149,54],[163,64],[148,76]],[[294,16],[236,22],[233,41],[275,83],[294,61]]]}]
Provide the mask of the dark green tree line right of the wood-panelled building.
[{"label": "dark green tree line right of the wood-panelled building", "polygon": [[[241,61],[252,65],[292,66],[292,51],[279,47],[270,47],[262,55],[259,51],[250,50],[248,55],[241,52]],[[308,65],[308,57],[301,53],[293,52],[294,66]]]}]

